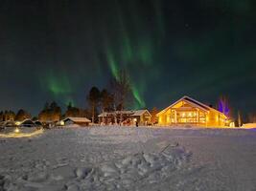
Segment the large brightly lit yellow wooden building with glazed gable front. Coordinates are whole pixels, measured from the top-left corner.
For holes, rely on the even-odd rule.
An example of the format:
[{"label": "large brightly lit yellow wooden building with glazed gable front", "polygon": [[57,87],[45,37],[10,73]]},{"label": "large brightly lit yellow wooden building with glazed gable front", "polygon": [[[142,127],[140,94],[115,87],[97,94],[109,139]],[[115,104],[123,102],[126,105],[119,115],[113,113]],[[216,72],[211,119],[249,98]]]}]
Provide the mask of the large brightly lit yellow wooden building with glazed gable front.
[{"label": "large brightly lit yellow wooden building with glazed gable front", "polygon": [[229,119],[218,110],[183,96],[157,114],[159,125],[229,126]]}]

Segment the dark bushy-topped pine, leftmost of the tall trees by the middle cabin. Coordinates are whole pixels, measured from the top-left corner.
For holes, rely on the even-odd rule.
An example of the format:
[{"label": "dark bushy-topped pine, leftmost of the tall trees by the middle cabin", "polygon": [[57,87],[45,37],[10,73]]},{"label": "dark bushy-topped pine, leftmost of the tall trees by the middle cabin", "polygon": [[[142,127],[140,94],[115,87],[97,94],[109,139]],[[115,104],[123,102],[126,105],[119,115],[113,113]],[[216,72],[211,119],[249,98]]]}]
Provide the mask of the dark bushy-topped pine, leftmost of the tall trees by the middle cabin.
[{"label": "dark bushy-topped pine, leftmost of the tall trees by the middle cabin", "polygon": [[99,105],[100,101],[100,91],[97,87],[92,87],[88,96],[87,96],[87,101],[90,105],[91,108],[91,117],[92,117],[92,122],[95,122],[95,114],[97,112],[97,107]]}]

